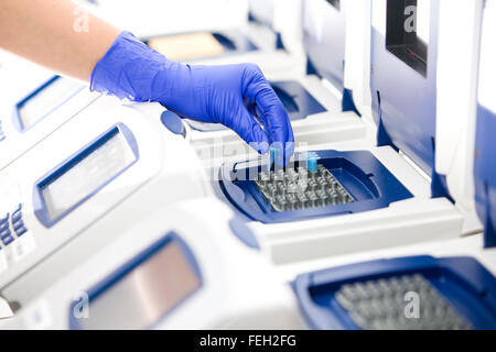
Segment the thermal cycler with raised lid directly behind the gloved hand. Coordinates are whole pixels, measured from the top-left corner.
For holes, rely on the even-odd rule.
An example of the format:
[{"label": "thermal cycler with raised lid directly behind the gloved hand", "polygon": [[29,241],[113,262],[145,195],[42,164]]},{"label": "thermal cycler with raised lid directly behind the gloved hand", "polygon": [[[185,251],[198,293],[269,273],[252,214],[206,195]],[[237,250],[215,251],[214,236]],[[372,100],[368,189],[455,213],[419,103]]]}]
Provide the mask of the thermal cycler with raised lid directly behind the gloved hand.
[{"label": "thermal cycler with raised lid directly behind the gloved hand", "polygon": [[[296,143],[315,145],[326,141],[363,139],[367,135],[368,121],[359,118],[359,110],[366,82],[362,79],[364,75],[357,73],[369,72],[363,64],[368,55],[362,50],[369,41],[363,23],[363,18],[369,16],[368,4],[313,0],[304,1],[301,8],[308,75],[266,67],[267,62],[281,63],[277,57],[270,58],[269,52],[259,58],[255,54],[241,55],[236,62],[251,62],[262,67],[289,114]],[[290,40],[281,35],[281,43],[285,45]],[[226,56],[223,59],[228,62],[233,58]],[[345,59],[349,64],[344,65]],[[207,61],[213,62],[216,61]],[[353,99],[354,94],[357,99]],[[186,128],[192,130],[191,143],[208,167],[218,166],[226,158],[255,155],[255,151],[233,131],[219,124],[186,121]]]}]

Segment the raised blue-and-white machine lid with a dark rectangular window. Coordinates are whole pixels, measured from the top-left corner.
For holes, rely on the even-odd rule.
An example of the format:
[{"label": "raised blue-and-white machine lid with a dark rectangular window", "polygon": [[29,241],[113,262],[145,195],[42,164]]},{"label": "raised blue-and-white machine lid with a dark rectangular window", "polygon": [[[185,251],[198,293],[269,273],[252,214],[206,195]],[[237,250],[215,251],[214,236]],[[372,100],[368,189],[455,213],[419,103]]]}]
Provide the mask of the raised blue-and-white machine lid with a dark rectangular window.
[{"label": "raised blue-and-white machine lid with a dark rectangular window", "polygon": [[377,1],[371,11],[370,92],[378,145],[402,151],[433,179],[439,2]]}]

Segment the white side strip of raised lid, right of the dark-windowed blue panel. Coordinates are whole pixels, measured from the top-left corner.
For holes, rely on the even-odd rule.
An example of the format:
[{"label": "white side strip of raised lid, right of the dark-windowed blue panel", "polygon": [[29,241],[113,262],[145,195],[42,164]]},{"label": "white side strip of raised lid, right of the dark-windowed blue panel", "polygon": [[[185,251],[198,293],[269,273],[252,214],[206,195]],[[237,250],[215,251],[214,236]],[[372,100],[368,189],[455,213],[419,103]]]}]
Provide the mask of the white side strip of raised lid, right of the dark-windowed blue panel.
[{"label": "white side strip of raised lid, right of the dark-windowed blue panel", "polygon": [[446,175],[450,196],[464,213],[463,234],[482,231],[473,172],[482,14],[483,0],[440,6],[435,170]]}]

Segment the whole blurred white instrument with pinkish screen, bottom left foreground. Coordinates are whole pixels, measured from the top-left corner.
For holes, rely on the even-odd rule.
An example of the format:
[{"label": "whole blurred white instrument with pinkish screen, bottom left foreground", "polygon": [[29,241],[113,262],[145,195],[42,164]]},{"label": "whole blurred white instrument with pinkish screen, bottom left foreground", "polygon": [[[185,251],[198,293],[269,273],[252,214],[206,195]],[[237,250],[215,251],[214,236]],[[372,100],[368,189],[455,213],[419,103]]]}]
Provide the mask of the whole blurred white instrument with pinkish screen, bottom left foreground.
[{"label": "whole blurred white instrument with pinkish screen, bottom left foreground", "polygon": [[[202,208],[204,212],[196,212]],[[212,215],[218,221],[212,221]],[[300,329],[289,284],[208,199],[154,209],[0,321],[2,329]],[[192,221],[194,219],[194,221]],[[99,235],[99,227],[87,232]],[[241,240],[240,240],[241,239]],[[62,250],[64,256],[77,246]],[[45,270],[63,265],[48,260]],[[21,287],[3,294],[15,299]]]}]

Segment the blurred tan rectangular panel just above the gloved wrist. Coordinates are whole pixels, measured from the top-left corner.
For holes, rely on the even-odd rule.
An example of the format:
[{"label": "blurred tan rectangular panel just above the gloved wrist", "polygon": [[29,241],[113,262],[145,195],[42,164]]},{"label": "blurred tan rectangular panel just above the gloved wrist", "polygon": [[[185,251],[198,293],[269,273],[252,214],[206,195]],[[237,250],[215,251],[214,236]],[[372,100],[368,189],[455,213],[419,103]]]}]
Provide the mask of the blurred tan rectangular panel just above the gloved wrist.
[{"label": "blurred tan rectangular panel just above the gloved wrist", "polygon": [[211,33],[192,33],[155,37],[148,45],[170,59],[195,59],[217,56],[224,53],[224,46]]}]

